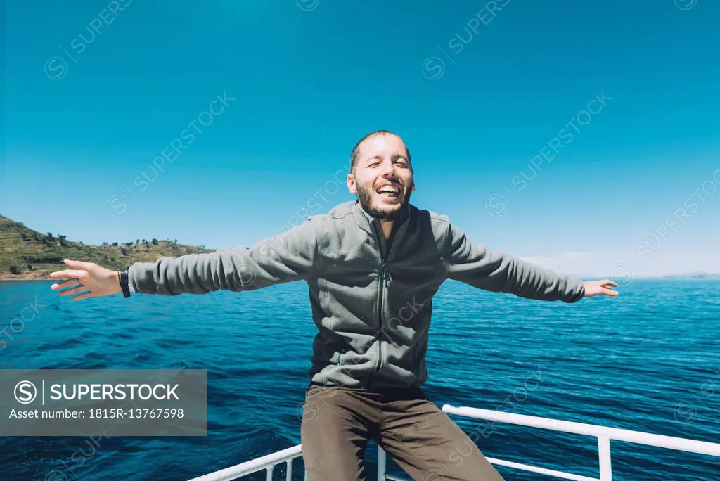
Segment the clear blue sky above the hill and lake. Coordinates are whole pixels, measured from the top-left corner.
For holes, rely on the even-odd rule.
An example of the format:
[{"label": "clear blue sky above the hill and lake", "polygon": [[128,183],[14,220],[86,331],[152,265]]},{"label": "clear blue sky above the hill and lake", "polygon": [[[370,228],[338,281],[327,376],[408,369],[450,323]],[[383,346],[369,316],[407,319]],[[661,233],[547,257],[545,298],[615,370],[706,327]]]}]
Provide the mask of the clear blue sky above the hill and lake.
[{"label": "clear blue sky above the hill and lake", "polygon": [[720,272],[717,2],[7,4],[0,213],[30,228],[249,246],[353,199],[383,128],[413,204],[491,248]]}]

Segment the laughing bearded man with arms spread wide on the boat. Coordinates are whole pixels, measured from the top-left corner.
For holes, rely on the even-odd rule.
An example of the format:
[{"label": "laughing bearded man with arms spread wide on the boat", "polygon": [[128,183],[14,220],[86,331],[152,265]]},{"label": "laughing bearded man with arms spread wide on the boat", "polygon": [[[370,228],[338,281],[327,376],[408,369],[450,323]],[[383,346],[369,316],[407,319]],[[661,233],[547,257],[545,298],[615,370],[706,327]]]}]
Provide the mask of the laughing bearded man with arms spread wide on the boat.
[{"label": "laughing bearded man with arms spread wide on the boat", "polygon": [[[305,280],[312,318],[302,455],[310,481],[364,480],[369,439],[415,480],[500,481],[477,446],[420,390],[432,297],[446,279],[536,300],[615,296],[609,280],[582,282],[473,243],[447,217],[409,203],[410,153],[379,130],[351,154],[355,202],[334,207],[252,248],[135,263],[125,272],[66,261],[52,289],[73,300],[113,295],[205,294]],[[76,280],[77,279],[77,280]],[[120,279],[120,280],[119,280]],[[469,449],[469,450],[468,450]],[[461,450],[460,463],[456,451]],[[464,451],[468,451],[465,455]]]}]

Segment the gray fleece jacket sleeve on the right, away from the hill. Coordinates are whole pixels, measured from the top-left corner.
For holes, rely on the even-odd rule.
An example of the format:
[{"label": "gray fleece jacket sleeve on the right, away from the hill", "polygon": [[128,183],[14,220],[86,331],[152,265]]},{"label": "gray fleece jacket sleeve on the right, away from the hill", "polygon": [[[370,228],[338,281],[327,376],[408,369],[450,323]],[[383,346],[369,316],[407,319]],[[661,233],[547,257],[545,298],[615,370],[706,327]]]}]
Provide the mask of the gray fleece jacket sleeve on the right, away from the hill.
[{"label": "gray fleece jacket sleeve on the right, away from the hill", "polygon": [[580,279],[557,274],[505,253],[492,251],[448,223],[446,277],[492,292],[528,299],[577,302],[585,296]]}]

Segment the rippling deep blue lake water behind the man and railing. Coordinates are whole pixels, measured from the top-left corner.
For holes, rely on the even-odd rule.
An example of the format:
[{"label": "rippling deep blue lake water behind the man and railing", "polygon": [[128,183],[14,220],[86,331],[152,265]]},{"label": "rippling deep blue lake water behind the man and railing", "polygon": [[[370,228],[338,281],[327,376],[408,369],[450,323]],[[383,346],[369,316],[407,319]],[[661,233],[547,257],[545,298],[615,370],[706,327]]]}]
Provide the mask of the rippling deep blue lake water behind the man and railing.
[{"label": "rippling deep blue lake water behind the man and railing", "polygon": [[[113,437],[94,451],[81,436],[4,437],[2,480],[187,480],[300,443],[316,332],[305,284],[82,302],[50,284],[0,282],[0,329],[29,303],[39,312],[0,339],[0,369],[207,369],[207,436]],[[720,282],[636,279],[620,290],[566,305],[447,282],[423,390],[438,405],[720,442]],[[468,433],[482,424],[451,417]],[[487,457],[599,476],[588,436],[497,423],[475,439]],[[80,449],[87,457],[72,462]],[[616,481],[720,480],[718,457],[617,441],[612,454]],[[376,459],[372,445],[369,480]],[[294,470],[301,479],[300,460]],[[557,479],[498,470],[508,481]]]}]

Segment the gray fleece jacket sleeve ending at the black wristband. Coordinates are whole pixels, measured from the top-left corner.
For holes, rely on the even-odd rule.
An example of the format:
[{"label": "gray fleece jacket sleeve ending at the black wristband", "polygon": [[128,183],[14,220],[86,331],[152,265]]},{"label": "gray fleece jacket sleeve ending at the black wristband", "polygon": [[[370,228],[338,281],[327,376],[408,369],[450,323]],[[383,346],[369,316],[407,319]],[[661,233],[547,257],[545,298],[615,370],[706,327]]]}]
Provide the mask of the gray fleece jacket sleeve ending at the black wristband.
[{"label": "gray fleece jacket sleeve ending at the black wristband", "polygon": [[311,220],[281,235],[213,253],[161,257],[128,269],[139,294],[207,294],[217,290],[250,291],[307,279],[315,262],[317,239]]}]

